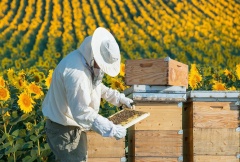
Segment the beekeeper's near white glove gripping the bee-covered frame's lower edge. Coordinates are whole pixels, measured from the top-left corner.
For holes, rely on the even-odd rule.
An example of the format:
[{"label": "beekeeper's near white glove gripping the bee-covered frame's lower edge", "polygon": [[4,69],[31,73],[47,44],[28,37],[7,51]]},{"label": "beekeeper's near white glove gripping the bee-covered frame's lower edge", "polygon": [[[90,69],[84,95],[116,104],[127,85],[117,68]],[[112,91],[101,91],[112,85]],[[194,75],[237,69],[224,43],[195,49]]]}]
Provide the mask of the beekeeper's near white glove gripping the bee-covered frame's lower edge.
[{"label": "beekeeper's near white glove gripping the bee-covered frame's lower edge", "polygon": [[126,136],[126,129],[121,125],[115,125],[107,118],[98,115],[92,124],[92,130],[103,137],[115,137],[117,140]]}]

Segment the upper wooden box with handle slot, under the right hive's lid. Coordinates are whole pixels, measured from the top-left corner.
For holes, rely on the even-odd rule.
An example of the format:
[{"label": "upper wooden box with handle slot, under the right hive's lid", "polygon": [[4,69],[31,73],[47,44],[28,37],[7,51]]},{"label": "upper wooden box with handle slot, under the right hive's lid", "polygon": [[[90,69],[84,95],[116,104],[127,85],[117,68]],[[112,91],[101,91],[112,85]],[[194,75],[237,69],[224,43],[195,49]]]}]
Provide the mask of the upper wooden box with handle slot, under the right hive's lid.
[{"label": "upper wooden box with handle slot, under the right hive's lid", "polygon": [[183,127],[186,128],[237,128],[239,109],[231,102],[192,102],[184,104]]}]

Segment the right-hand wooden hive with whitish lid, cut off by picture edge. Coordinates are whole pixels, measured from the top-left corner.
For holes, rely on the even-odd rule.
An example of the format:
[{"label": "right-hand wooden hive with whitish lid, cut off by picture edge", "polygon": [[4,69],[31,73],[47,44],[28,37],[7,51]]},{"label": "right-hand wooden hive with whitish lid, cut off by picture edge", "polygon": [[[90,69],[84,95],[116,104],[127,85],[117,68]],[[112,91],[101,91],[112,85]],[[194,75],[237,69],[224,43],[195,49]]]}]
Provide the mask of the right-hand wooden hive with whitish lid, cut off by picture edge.
[{"label": "right-hand wooden hive with whitish lid, cut off by picture edge", "polygon": [[239,95],[238,91],[189,92],[183,106],[184,159],[239,162]]}]

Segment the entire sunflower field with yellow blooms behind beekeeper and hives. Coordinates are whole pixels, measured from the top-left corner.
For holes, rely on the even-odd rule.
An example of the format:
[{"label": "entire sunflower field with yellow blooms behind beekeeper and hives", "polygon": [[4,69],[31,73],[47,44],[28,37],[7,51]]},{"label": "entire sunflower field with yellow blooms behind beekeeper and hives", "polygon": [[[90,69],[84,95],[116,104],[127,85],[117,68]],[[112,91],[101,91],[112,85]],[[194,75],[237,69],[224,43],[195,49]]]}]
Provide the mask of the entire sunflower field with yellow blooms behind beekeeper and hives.
[{"label": "entire sunflower field with yellow blooms behind beekeeper and hives", "polygon": [[[189,65],[188,90],[240,90],[239,0],[0,0],[0,161],[50,161],[41,103],[58,62],[102,26],[126,59]],[[117,108],[102,101],[100,113]]]}]

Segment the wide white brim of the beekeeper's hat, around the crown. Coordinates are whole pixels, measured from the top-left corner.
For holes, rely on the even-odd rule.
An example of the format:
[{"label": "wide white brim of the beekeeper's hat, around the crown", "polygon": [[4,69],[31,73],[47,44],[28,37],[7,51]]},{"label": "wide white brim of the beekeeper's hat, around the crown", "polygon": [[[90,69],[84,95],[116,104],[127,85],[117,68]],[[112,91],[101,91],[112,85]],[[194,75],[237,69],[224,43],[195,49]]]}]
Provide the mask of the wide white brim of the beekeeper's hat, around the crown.
[{"label": "wide white brim of the beekeeper's hat, around the crown", "polygon": [[120,62],[121,62],[120,50],[116,51],[119,55],[119,59],[116,62],[114,62],[112,64],[105,62],[100,53],[100,46],[101,46],[102,41],[107,40],[107,39],[116,42],[113,35],[107,29],[98,27],[94,31],[93,36],[92,36],[92,42],[91,42],[93,57],[94,57],[94,60],[97,62],[98,66],[100,67],[100,69],[104,73],[106,73],[112,77],[115,77],[120,72]]}]

